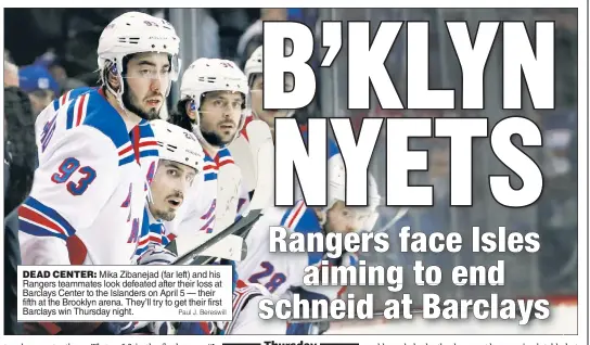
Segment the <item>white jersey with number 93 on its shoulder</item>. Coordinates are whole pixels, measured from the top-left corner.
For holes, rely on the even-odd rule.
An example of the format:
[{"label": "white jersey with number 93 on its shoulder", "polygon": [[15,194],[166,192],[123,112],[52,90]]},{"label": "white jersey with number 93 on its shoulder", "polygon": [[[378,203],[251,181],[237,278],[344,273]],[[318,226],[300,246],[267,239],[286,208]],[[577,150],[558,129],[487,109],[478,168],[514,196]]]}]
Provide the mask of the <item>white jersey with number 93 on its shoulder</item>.
[{"label": "white jersey with number 93 on its shoulder", "polygon": [[39,168],[18,210],[23,265],[128,265],[157,143],[148,122],[128,128],[101,90],[73,93],[37,122]]}]

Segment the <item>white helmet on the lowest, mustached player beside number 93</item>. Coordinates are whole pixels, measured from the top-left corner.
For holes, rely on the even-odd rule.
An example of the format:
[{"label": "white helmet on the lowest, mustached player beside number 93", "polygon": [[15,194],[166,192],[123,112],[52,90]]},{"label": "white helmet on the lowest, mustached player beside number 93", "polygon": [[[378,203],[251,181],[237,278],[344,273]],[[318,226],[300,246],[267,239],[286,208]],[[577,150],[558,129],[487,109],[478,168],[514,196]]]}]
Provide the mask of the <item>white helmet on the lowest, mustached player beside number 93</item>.
[{"label": "white helmet on the lowest, mustached player beside number 93", "polygon": [[161,159],[184,164],[196,169],[196,174],[203,171],[205,153],[192,132],[163,119],[151,120],[150,125],[158,144]]}]

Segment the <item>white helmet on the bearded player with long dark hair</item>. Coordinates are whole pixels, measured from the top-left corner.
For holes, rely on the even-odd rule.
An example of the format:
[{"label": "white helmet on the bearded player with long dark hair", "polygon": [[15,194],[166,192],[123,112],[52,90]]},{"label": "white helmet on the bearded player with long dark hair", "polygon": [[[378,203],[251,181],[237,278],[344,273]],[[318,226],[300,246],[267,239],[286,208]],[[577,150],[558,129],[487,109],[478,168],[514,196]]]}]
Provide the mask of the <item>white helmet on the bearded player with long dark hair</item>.
[{"label": "white helmet on the bearded player with long dark hair", "polygon": [[180,99],[190,99],[194,102],[197,114],[193,129],[201,137],[198,107],[205,93],[214,91],[242,93],[245,103],[238,130],[233,137],[235,139],[244,126],[246,115],[248,115],[248,82],[242,69],[234,62],[221,59],[197,59],[184,71],[180,81]]}]

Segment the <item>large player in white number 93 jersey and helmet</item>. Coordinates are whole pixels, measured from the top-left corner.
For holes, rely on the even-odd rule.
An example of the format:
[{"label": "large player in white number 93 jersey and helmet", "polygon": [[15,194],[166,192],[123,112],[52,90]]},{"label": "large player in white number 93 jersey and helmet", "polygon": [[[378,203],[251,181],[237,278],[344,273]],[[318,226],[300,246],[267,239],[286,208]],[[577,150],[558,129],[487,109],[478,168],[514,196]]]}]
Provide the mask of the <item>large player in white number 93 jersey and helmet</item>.
[{"label": "large player in white number 93 jersey and helmet", "polygon": [[178,52],[174,27],[144,13],[125,13],[103,30],[101,88],[64,98],[39,133],[39,168],[20,209],[24,265],[130,263],[157,165],[148,119],[178,77]]}]

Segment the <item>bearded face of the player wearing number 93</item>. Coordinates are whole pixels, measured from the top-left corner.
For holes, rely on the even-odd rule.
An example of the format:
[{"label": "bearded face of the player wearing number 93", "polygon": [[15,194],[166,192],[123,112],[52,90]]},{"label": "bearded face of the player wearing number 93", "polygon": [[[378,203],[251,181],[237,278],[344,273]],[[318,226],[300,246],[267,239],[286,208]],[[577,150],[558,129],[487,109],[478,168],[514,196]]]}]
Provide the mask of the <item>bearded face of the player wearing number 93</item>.
[{"label": "bearded face of the player wearing number 93", "polygon": [[170,85],[170,62],[165,53],[136,54],[127,63],[123,103],[141,118],[158,118]]}]

